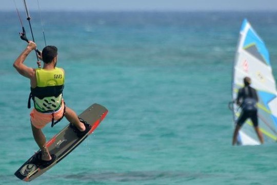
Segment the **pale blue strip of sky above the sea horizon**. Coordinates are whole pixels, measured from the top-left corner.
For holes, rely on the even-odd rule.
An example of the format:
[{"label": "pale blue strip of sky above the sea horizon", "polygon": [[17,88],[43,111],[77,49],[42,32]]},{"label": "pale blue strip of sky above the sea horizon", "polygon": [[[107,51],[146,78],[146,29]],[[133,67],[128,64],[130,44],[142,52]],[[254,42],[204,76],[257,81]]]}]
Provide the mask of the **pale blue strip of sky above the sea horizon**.
[{"label": "pale blue strip of sky above the sea horizon", "polygon": [[[14,0],[23,10],[23,0]],[[26,0],[38,10],[37,0]],[[41,10],[93,11],[277,11],[277,0],[39,0]],[[13,0],[2,0],[0,11],[15,10]]]}]

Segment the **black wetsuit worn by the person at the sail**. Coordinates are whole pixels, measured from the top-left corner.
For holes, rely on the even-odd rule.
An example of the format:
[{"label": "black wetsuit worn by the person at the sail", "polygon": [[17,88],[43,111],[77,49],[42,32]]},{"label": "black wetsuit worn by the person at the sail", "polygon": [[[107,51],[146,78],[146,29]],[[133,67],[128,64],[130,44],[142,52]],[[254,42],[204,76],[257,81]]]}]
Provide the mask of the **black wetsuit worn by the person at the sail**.
[{"label": "black wetsuit worn by the person at the sail", "polygon": [[240,88],[236,102],[239,103],[240,100],[242,100],[242,113],[237,124],[242,126],[246,119],[250,118],[253,125],[258,126],[258,109],[255,104],[259,99],[256,90],[250,86]]}]

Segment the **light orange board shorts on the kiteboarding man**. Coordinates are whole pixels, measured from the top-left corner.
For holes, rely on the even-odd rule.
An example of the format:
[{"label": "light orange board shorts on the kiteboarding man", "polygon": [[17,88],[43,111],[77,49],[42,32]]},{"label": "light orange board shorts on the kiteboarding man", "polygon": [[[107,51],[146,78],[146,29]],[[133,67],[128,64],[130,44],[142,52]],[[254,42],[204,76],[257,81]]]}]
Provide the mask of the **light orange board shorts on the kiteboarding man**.
[{"label": "light orange board shorts on the kiteboarding man", "polygon": [[[61,108],[54,113],[55,121],[62,118],[64,114],[64,109],[65,109],[65,103],[63,101]],[[39,129],[45,127],[47,123],[52,121],[52,113],[40,113],[36,109],[33,109],[31,111],[30,117],[31,117],[32,125],[34,125],[34,127]]]}]

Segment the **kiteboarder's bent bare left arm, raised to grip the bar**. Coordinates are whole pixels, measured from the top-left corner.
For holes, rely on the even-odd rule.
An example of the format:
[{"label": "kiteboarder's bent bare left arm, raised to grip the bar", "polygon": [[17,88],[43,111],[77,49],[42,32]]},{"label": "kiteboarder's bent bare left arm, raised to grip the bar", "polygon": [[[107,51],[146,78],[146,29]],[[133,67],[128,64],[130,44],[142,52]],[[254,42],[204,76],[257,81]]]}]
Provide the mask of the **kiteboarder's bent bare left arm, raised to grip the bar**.
[{"label": "kiteboarder's bent bare left arm, raised to grip the bar", "polygon": [[14,61],[13,67],[24,77],[31,79],[35,74],[35,69],[26,66],[24,63],[28,54],[36,48],[36,44],[32,41],[29,41],[28,46],[25,50],[19,55],[19,57]]}]

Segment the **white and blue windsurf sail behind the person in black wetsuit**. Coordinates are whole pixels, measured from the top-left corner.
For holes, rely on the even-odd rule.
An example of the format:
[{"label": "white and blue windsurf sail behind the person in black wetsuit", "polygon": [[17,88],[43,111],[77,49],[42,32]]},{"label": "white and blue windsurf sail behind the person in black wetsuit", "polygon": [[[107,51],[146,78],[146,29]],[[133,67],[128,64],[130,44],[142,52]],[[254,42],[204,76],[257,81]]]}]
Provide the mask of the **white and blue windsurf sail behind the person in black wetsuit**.
[{"label": "white and blue windsurf sail behind the person in black wetsuit", "polygon": [[[264,41],[245,19],[240,30],[240,39],[236,50],[233,78],[232,99],[235,100],[239,88],[243,87],[243,78],[250,77],[251,86],[259,96],[259,127],[265,143],[277,141],[277,91],[269,59],[269,52]],[[233,104],[234,123],[241,114],[241,108]],[[246,120],[238,135],[241,145],[260,144],[250,119]]]}]

